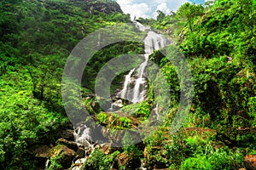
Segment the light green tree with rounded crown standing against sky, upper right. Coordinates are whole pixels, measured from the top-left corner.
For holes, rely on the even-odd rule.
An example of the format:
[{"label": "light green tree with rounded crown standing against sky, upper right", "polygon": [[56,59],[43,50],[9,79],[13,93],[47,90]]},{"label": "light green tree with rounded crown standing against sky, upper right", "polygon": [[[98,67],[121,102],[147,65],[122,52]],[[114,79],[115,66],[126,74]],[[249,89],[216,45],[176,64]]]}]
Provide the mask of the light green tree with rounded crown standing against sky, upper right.
[{"label": "light green tree with rounded crown standing against sky, upper right", "polygon": [[199,5],[195,5],[195,3],[184,3],[180,8],[177,10],[177,17],[185,18],[189,22],[189,30],[191,33],[193,32],[192,29],[192,22],[195,20],[197,16],[201,16],[204,14],[204,8]]}]

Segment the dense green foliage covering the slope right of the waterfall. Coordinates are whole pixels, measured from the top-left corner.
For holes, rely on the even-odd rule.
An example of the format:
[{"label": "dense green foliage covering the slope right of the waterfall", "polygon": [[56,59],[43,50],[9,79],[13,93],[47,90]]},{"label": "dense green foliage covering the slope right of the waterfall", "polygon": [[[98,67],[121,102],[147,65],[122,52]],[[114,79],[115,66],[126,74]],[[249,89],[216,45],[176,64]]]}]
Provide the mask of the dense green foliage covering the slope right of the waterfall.
[{"label": "dense green foliage covering the slope right of the waterfall", "polygon": [[[162,161],[162,164],[171,168],[236,169],[244,166],[241,153],[246,155],[254,152],[255,5],[254,1],[219,0],[210,8],[199,12],[191,9],[191,6],[197,8],[197,5],[187,3],[178,9],[177,15],[168,15],[153,24],[162,31],[174,32],[177,46],[168,47],[169,54],[178,56],[175,48],[181,48],[192,71],[194,99],[187,123],[183,127],[200,127],[196,130],[198,133],[203,129],[216,131],[216,136],[203,143],[201,139],[179,137],[179,143],[168,143],[172,152],[166,156],[171,158],[159,155],[155,161]],[[187,20],[183,20],[182,16],[187,17]],[[173,31],[177,28],[180,28],[181,33]],[[151,58],[162,67],[170,88],[174,90],[172,105],[177,107],[180,88],[175,66],[161,54],[156,53]],[[172,123],[172,115],[175,113],[172,108],[169,116],[171,119],[166,122],[167,127]],[[193,145],[190,142],[197,145],[195,150],[193,147],[188,148]],[[219,142],[228,147],[224,150],[208,148]],[[235,155],[231,153],[234,150]],[[152,156],[155,154],[157,152],[154,151]],[[177,154],[180,154],[179,159],[172,159]]]}]

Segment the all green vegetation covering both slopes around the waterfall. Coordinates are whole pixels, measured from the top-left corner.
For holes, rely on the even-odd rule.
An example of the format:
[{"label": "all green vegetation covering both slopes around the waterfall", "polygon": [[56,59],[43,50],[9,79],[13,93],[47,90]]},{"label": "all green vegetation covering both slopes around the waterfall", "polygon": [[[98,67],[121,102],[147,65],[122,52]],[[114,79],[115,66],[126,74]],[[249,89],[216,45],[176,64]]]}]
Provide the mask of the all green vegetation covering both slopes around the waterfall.
[{"label": "all green vegetation covering both slopes around the waterfall", "polygon": [[[150,55],[166,78],[170,103],[163,96],[154,96],[153,82],[149,82],[148,99],[141,104],[104,112],[94,95],[97,73],[116,56],[143,54],[143,43],[118,42],[99,50],[84,70],[81,87],[82,102],[90,115],[113,130],[143,123],[149,126],[155,123],[147,118],[157,99],[162,102],[159,110],[167,110],[166,119],[142,144],[129,145],[131,136],[125,135],[125,147],[117,151],[94,150],[82,169],[133,169],[140,161],[148,169],[246,167],[244,157],[256,152],[255,11],[253,0],[217,0],[205,7],[185,3],[177,14],[158,11],[157,20],[138,19],[176,40],[166,51],[173,59],[182,53],[192,72],[193,104],[175,134],[170,127],[183,86],[177,65],[159,51]],[[114,1],[0,3],[0,169],[42,167],[32,156],[32,146],[50,147],[61,138],[61,129],[70,127],[61,99],[61,75],[68,54],[91,32],[129,22],[130,16]],[[124,74],[113,80],[112,95]],[[50,160],[49,169],[61,168],[59,158]]]}]

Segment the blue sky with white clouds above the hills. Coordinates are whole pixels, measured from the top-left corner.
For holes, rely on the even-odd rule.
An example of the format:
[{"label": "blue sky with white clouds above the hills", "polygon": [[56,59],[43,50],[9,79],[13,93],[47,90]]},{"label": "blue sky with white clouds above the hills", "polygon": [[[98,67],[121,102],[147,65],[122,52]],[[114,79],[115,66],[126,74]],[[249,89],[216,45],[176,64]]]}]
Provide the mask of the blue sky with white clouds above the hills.
[{"label": "blue sky with white clouds above the hills", "polygon": [[161,10],[166,14],[176,11],[183,3],[204,3],[204,0],[117,0],[125,14],[143,18],[155,18],[156,11]]}]

